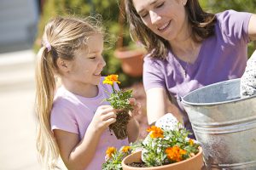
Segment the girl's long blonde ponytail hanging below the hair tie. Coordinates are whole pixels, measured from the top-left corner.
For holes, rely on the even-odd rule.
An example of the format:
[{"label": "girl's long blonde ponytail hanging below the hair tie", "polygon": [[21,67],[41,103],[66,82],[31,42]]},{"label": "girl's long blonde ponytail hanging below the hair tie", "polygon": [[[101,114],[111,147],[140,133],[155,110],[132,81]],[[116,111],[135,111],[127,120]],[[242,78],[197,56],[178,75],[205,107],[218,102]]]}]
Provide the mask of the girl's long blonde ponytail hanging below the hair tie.
[{"label": "girl's long blonde ponytail hanging below the hair tie", "polygon": [[55,94],[54,61],[46,47],[38,52],[35,79],[38,158],[46,169],[54,169],[59,156],[50,128],[50,111]]}]

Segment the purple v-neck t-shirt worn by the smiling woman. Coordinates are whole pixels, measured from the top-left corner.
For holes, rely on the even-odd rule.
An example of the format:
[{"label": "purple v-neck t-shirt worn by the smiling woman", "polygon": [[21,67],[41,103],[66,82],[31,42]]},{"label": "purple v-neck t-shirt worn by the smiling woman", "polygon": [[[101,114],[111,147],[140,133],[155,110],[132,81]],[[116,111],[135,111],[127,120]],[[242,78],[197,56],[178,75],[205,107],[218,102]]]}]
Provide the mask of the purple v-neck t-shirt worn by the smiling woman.
[{"label": "purple v-neck t-shirt worn by the smiling woman", "polygon": [[[177,98],[196,88],[241,77],[247,63],[247,31],[251,15],[234,10],[216,14],[215,35],[202,42],[194,64],[177,59],[172,51],[166,59],[151,58],[148,54],[143,64],[145,90],[166,88],[172,98]],[[190,129],[187,114],[181,105],[179,108],[185,127]]]}]

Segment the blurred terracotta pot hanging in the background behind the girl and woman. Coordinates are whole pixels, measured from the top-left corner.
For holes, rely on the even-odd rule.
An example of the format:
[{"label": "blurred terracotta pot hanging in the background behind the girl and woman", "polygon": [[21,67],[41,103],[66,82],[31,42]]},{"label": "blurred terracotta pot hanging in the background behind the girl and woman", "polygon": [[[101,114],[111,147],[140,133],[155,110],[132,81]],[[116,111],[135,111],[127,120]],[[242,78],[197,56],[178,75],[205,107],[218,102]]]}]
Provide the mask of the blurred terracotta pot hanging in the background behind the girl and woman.
[{"label": "blurred terracotta pot hanging in the background behind the girl and woman", "polygon": [[120,59],[122,70],[131,77],[143,76],[143,49],[118,48],[114,51],[114,56]]}]

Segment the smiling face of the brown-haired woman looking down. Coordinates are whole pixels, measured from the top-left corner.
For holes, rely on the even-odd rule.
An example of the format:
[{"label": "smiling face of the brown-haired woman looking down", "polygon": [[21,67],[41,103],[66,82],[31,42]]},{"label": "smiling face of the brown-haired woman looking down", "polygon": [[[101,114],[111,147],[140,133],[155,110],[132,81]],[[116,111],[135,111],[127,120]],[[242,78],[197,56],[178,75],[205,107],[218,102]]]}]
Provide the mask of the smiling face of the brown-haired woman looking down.
[{"label": "smiling face of the brown-haired woman looking down", "polygon": [[132,0],[145,26],[167,41],[188,31],[184,4],[187,0]]}]

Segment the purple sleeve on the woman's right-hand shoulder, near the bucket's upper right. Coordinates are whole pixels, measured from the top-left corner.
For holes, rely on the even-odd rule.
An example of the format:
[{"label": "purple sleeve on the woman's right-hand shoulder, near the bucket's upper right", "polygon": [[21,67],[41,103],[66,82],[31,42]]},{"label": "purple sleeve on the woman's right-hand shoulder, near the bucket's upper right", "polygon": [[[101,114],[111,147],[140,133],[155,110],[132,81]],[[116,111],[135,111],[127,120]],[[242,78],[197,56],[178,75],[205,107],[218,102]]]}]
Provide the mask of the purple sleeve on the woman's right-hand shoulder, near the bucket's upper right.
[{"label": "purple sleeve on the woman's right-hand shoulder, near the bucket's upper right", "polygon": [[227,10],[218,15],[218,20],[226,38],[232,42],[248,43],[248,25],[252,14]]}]

